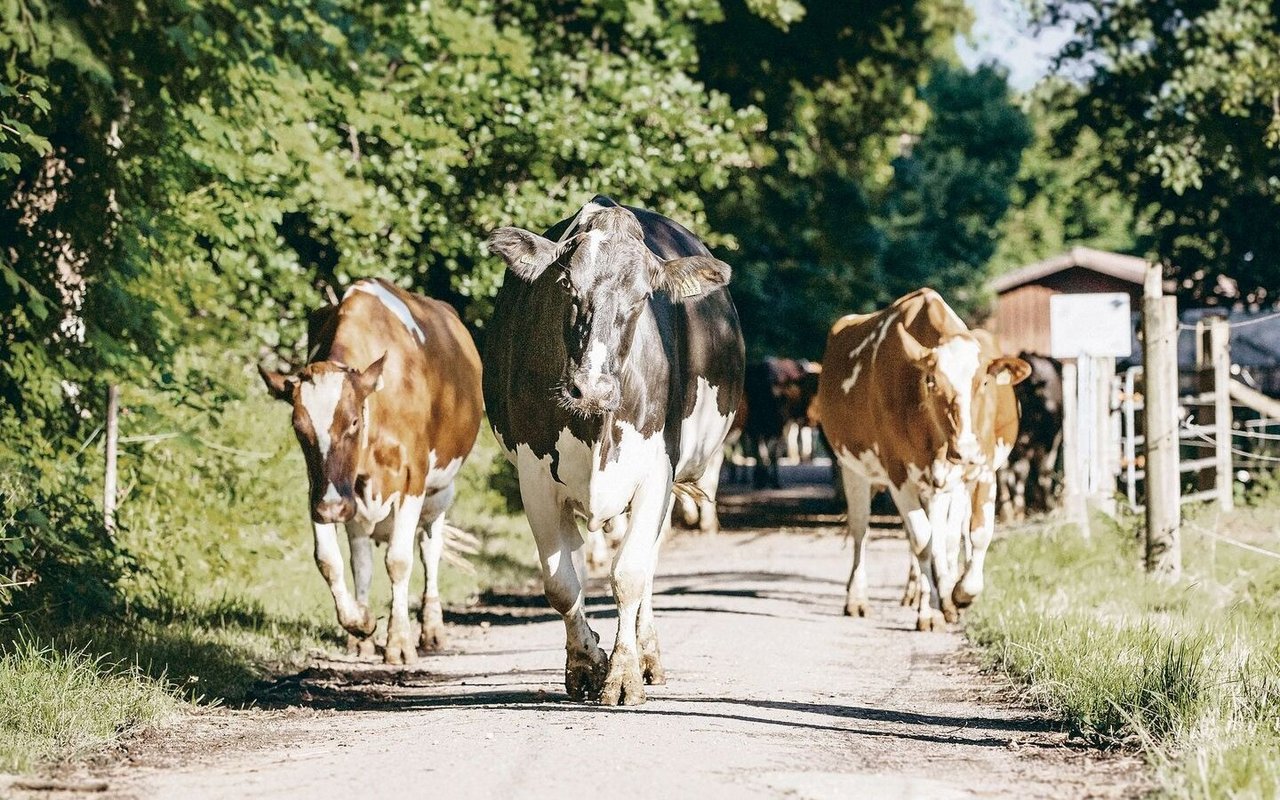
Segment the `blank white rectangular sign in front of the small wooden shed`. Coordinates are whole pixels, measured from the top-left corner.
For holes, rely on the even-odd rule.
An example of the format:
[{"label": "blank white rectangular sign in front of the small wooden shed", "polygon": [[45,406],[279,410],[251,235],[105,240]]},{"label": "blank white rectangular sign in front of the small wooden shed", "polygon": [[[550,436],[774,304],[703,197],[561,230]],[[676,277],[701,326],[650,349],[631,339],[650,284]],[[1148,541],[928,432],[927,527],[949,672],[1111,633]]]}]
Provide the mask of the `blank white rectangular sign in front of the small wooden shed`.
[{"label": "blank white rectangular sign in front of the small wooden shed", "polygon": [[1119,358],[1132,352],[1133,321],[1129,296],[1124,292],[1053,294],[1048,298],[1050,356]]}]

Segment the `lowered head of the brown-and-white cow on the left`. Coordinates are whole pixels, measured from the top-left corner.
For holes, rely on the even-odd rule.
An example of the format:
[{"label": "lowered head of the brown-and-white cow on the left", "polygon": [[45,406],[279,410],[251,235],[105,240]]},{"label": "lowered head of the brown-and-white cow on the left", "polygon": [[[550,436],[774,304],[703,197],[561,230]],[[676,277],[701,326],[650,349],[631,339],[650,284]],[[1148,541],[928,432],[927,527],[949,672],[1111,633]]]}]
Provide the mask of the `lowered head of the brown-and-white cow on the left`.
[{"label": "lowered head of the brown-and-white cow on the left", "polygon": [[356,513],[356,470],[367,442],[365,401],[381,388],[384,360],[364,371],[337,361],[308,364],[293,375],[259,367],[271,397],[293,406],[316,522],[346,522]]}]

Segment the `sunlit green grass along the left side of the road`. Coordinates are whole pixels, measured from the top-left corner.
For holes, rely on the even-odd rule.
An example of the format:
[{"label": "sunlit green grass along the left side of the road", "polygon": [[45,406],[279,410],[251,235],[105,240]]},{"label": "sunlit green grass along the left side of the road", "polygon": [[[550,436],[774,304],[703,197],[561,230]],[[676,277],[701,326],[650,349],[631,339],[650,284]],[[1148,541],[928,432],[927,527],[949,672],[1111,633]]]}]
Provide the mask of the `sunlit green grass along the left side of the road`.
[{"label": "sunlit green grass along the left side of the road", "polygon": [[[125,399],[146,417],[145,397]],[[342,650],[346,635],[312,561],[288,412],[257,396],[233,411],[230,426],[201,424],[192,412],[191,425],[218,448],[177,436],[122,454],[119,543],[133,564],[122,607],[0,613],[0,772],[92,753],[195,704],[252,703],[264,681],[316,652]],[[445,605],[538,575],[527,524],[495,489],[508,477],[499,458],[483,430],[449,515],[480,552],[467,557],[471,570],[442,564]],[[421,585],[417,566],[411,596]],[[389,599],[375,564],[371,603],[380,617]]]}]

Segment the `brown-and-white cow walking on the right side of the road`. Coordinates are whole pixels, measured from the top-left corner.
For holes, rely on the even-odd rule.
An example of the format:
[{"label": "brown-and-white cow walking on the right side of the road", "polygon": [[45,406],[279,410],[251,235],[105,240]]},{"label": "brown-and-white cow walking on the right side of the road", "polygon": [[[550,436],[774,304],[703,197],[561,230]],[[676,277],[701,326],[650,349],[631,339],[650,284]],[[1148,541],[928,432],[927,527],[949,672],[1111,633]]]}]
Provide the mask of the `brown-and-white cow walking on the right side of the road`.
[{"label": "brown-and-white cow walking on the right side of the road", "polygon": [[[832,326],[818,385],[823,433],[842,467],[854,568],[845,613],[865,616],[864,541],[872,486],[890,490],[920,575],[918,630],[956,618],[951,594],[970,479],[983,461],[974,403],[986,376],[980,342],[933,289]],[[936,608],[934,608],[936,607]]]}]

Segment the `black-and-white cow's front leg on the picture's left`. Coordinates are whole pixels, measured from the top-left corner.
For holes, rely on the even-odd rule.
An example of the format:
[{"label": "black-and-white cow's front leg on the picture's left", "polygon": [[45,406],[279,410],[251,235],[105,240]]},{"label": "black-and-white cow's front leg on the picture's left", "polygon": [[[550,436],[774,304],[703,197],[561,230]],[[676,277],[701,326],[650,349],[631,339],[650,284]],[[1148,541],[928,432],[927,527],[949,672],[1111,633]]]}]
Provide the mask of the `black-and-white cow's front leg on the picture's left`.
[{"label": "black-and-white cow's front leg on the picture's left", "polygon": [[582,584],[573,564],[573,550],[581,547],[573,509],[556,497],[550,476],[536,467],[520,471],[520,495],[538,543],[547,600],[564,618],[564,690],[573,700],[595,700],[609,663],[586,622]]}]

